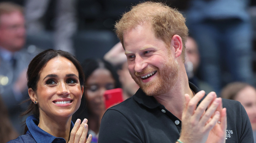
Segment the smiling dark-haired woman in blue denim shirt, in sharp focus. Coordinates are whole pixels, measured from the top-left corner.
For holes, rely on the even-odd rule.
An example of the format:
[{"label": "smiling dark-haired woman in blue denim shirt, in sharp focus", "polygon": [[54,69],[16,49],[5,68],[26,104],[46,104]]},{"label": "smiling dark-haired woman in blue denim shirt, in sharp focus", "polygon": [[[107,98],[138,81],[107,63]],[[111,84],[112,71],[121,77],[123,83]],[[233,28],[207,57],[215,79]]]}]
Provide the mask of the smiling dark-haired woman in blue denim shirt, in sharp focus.
[{"label": "smiling dark-haired woman in blue denim shirt, in sharp focus", "polygon": [[30,105],[23,114],[24,134],[16,142],[90,143],[87,119],[71,121],[83,94],[84,73],[78,60],[68,52],[45,50],[35,56],[27,71]]}]

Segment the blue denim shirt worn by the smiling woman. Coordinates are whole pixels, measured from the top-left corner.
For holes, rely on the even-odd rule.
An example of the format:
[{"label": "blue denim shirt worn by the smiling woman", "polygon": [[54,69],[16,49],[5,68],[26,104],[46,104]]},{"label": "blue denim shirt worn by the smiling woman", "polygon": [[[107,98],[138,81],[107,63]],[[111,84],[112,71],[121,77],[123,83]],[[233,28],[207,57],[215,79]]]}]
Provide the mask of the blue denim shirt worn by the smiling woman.
[{"label": "blue denim shirt worn by the smiling woman", "polygon": [[[25,135],[18,136],[16,139],[7,143],[66,143],[62,137],[55,137],[45,132],[37,125],[39,120],[35,115],[31,115],[26,119],[28,131]],[[70,131],[73,129],[74,123],[71,121]]]}]

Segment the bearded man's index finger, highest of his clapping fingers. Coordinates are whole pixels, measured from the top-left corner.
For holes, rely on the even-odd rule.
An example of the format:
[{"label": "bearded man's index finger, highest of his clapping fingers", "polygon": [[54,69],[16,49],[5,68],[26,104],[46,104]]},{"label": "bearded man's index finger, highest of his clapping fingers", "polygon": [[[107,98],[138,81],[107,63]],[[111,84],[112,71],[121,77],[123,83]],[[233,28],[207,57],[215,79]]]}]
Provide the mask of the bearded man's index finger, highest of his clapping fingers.
[{"label": "bearded man's index finger, highest of his clapping fingers", "polygon": [[196,109],[197,103],[203,98],[205,95],[205,91],[199,91],[188,103],[187,105],[187,112],[191,115],[193,114],[194,110]]}]

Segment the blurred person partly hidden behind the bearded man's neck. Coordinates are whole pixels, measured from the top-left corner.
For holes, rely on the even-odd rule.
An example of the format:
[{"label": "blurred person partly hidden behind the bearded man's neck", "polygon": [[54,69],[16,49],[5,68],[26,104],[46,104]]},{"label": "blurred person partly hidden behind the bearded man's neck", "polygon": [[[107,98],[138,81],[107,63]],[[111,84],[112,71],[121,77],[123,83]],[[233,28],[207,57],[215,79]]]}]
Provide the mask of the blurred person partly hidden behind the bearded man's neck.
[{"label": "blurred person partly hidden behind the bearded man's neck", "polygon": [[199,89],[204,90],[206,93],[213,91],[212,87],[200,80],[197,76],[198,67],[200,64],[200,53],[198,51],[197,42],[189,36],[186,44],[186,61],[185,68],[188,76],[188,81],[192,82],[195,86],[199,87]]}]

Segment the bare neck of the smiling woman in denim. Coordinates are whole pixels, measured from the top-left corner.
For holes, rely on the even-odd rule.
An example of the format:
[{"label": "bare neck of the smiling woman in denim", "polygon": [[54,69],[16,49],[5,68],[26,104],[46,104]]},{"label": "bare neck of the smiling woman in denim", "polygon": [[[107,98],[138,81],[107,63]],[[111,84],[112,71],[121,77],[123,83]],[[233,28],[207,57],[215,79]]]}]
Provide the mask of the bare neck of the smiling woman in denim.
[{"label": "bare neck of the smiling woman in denim", "polygon": [[69,141],[72,116],[65,119],[56,119],[56,117],[51,118],[48,116],[41,117],[39,118],[39,128],[55,137],[64,138],[66,142]]}]

